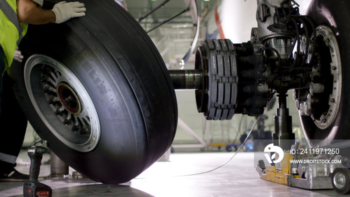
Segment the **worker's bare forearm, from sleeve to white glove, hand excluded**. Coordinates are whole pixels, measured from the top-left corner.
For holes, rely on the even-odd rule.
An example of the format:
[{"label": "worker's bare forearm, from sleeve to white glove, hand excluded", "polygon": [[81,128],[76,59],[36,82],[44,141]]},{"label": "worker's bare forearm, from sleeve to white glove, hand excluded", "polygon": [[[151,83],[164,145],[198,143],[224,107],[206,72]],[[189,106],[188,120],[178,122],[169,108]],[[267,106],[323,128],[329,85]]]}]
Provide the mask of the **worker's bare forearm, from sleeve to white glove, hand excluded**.
[{"label": "worker's bare forearm, from sleeve to white glove, hand excluded", "polygon": [[46,24],[55,21],[53,11],[43,9],[32,0],[16,0],[17,16],[19,22],[28,24]]}]

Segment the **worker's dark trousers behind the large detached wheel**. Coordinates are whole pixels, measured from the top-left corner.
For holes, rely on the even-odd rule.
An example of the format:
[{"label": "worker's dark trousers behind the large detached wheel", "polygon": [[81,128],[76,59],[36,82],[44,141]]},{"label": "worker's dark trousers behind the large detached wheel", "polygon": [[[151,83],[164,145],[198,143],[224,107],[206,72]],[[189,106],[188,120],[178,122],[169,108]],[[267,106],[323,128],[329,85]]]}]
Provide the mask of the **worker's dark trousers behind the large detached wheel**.
[{"label": "worker's dark trousers behind the large detached wheel", "polygon": [[[0,174],[10,172],[23,144],[27,119],[13,94],[0,47]],[[3,73],[3,75],[2,75]]]}]

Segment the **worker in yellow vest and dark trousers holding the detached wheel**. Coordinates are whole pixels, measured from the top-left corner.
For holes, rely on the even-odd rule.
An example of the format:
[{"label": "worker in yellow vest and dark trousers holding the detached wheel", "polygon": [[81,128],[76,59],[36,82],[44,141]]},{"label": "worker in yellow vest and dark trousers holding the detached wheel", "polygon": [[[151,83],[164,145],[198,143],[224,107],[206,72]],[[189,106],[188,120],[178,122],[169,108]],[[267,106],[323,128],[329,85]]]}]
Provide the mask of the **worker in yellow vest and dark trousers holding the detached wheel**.
[{"label": "worker in yellow vest and dark trousers holding the detached wheel", "polygon": [[27,24],[61,23],[84,16],[86,11],[80,2],[61,1],[51,10],[43,9],[42,4],[43,0],[0,0],[0,181],[25,181],[29,177],[14,168],[27,120],[6,74],[13,59],[22,61],[18,43],[27,31]]}]

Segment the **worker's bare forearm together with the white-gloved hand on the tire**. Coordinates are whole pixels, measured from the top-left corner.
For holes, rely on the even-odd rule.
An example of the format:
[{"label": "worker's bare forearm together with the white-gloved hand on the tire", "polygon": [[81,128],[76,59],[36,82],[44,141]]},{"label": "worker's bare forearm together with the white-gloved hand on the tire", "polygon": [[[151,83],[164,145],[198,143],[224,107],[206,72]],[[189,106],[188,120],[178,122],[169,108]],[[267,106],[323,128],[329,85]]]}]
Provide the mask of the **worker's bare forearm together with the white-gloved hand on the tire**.
[{"label": "worker's bare forearm together with the white-gloved hand on the tire", "polygon": [[20,22],[29,24],[61,23],[72,17],[84,16],[84,3],[61,1],[51,10],[43,9],[32,0],[16,0],[17,15]]}]

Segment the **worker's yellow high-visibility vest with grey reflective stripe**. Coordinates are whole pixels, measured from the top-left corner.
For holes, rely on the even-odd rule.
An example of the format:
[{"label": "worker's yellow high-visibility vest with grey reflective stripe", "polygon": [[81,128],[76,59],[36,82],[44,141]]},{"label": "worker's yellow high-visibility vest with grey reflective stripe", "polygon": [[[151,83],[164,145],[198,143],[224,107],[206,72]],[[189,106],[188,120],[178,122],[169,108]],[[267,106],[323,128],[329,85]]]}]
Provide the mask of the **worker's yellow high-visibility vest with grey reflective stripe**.
[{"label": "worker's yellow high-visibility vest with grey reflective stripe", "polygon": [[27,24],[18,21],[16,0],[0,0],[0,46],[5,54],[5,70],[27,29]]}]

